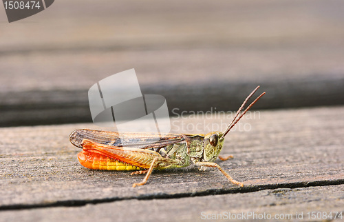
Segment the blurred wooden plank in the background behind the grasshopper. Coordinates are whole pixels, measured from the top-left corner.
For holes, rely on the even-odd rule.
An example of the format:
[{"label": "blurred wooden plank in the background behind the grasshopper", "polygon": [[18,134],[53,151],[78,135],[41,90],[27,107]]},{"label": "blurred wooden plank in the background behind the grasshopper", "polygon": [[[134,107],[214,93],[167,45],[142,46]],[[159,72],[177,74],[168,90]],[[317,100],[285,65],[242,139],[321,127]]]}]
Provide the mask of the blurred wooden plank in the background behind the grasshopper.
[{"label": "blurred wooden plank in the background behind the grasshopper", "polygon": [[233,110],[258,84],[256,108],[343,104],[343,4],[56,2],[0,26],[0,125],[90,121],[88,88],[129,68],[171,109]]}]

